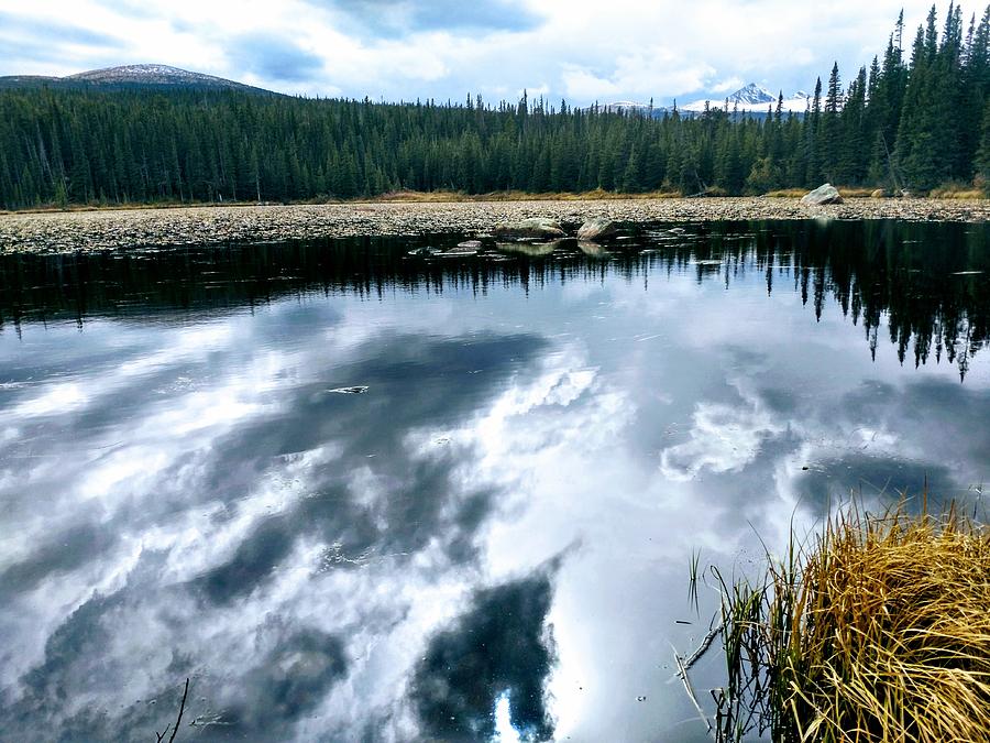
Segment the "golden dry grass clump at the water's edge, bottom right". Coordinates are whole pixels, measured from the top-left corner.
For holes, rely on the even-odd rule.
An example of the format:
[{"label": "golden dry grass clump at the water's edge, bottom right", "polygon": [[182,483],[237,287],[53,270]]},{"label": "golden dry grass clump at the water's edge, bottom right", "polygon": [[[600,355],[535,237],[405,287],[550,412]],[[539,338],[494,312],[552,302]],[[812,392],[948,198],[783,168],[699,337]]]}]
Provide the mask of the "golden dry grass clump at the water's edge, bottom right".
[{"label": "golden dry grass clump at the water's edge, bottom right", "polygon": [[990,741],[990,531],[854,509],[723,589],[723,741]]}]

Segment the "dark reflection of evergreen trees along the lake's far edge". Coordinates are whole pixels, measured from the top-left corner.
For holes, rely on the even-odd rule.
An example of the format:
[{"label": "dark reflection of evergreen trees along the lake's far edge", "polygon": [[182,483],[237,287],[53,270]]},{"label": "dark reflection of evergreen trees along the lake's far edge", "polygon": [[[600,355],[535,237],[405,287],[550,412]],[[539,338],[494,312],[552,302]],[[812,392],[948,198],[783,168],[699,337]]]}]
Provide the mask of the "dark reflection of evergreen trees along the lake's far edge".
[{"label": "dark reflection of evergreen trees along the lake's far edge", "polygon": [[[965,376],[990,336],[990,254],[985,225],[895,221],[645,225],[612,252],[562,241],[547,255],[410,255],[462,236],[355,238],[0,259],[0,330],[25,321],[180,318],[264,305],[290,295],[407,293],[493,286],[525,292],[618,274],[648,284],[680,273],[729,288],[751,272],[768,293],[791,286],[821,318],[831,297],[864,329],[876,358],[887,327],[902,362],[934,354]],[[537,251],[538,253],[539,251]]]}]

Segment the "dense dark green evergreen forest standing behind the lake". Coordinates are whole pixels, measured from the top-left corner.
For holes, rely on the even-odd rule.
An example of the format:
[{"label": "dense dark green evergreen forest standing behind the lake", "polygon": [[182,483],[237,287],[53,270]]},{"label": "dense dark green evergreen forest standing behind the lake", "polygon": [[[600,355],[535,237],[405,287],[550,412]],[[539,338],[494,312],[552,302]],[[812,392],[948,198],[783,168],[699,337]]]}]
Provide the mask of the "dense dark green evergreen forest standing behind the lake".
[{"label": "dense dark green evergreen forest standing behind the lake", "polygon": [[904,50],[848,85],[838,65],[803,114],[518,103],[382,103],[241,91],[0,91],[0,206],[990,184],[990,7],[933,7]]}]

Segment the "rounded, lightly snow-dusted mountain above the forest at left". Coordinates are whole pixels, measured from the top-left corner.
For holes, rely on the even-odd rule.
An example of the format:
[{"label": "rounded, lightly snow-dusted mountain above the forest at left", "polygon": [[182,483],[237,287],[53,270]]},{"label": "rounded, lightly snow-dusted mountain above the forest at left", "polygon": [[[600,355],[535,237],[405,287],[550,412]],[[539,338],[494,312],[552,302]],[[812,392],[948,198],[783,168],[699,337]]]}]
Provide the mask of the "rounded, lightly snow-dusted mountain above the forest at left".
[{"label": "rounded, lightly snow-dusted mountain above the forest at left", "polygon": [[190,90],[240,90],[264,95],[277,95],[271,90],[255,88],[243,83],[235,83],[213,75],[190,73],[187,69],[168,65],[124,65],[91,69],[67,77],[46,77],[43,75],[11,75],[0,77],[2,88],[53,88],[121,90],[128,88],[161,88]]}]

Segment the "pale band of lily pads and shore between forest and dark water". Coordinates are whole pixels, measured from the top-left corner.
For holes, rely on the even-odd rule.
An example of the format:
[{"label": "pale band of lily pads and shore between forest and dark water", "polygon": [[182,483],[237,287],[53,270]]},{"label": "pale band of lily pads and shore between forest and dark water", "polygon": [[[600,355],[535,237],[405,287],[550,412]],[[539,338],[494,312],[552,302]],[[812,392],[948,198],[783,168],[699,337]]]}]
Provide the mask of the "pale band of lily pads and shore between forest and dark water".
[{"label": "pale band of lily pads and shore between forest and dark water", "polygon": [[374,234],[463,233],[497,222],[549,217],[580,223],[758,219],[904,219],[983,222],[990,199],[848,199],[802,207],[790,198],[607,199],[565,201],[370,203],[190,207],[0,215],[0,252],[268,242]]}]

